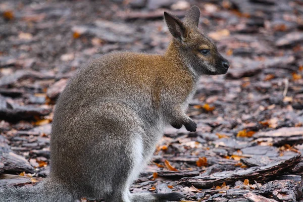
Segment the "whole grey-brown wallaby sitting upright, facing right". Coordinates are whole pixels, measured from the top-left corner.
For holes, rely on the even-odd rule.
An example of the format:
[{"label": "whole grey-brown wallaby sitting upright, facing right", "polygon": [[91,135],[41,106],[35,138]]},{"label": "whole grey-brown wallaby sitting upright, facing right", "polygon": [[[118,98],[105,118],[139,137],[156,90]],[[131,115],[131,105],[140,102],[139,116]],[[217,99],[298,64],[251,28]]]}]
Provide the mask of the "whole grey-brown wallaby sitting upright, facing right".
[{"label": "whole grey-brown wallaby sitting upright, facing right", "polygon": [[164,128],[195,131],[185,114],[200,75],[225,74],[229,63],[198,29],[194,6],[184,20],[164,12],[173,35],[164,55],[115,52],[70,79],[54,113],[51,173],[35,186],[3,188],[1,202],[178,201],[179,193],[133,193]]}]

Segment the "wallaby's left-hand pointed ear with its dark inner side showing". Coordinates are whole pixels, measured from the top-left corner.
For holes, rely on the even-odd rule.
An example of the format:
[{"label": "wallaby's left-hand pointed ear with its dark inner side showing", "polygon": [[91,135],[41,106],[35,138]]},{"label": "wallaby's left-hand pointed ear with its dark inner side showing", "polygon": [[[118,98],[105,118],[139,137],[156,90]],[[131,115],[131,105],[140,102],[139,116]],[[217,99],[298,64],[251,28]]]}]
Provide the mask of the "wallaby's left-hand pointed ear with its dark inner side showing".
[{"label": "wallaby's left-hand pointed ear with its dark inner side showing", "polygon": [[183,40],[187,37],[187,32],[184,24],[176,16],[164,12],[164,19],[170,33],[178,40]]}]

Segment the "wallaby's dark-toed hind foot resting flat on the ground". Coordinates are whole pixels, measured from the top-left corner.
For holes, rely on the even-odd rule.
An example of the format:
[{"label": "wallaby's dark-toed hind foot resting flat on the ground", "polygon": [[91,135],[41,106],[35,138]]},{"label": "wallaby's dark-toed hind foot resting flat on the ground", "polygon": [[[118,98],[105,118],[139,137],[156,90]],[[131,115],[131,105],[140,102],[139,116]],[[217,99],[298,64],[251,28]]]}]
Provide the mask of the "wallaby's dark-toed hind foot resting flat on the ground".
[{"label": "wallaby's dark-toed hind foot resting flat on the ground", "polygon": [[180,201],[185,198],[180,193],[133,193],[131,194],[131,202],[166,202],[166,201]]}]

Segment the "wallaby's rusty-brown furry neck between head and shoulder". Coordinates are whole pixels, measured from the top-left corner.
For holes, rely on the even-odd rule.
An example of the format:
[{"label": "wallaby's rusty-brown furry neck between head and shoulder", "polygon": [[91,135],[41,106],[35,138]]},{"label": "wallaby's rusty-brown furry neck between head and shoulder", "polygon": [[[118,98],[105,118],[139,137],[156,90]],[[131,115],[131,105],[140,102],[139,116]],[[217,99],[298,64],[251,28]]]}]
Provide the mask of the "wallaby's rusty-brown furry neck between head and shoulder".
[{"label": "wallaby's rusty-brown furry neck between head and shoulder", "polygon": [[195,73],[192,67],[182,57],[182,53],[180,50],[180,45],[177,44],[174,39],[172,39],[166,49],[164,54],[165,60],[167,60],[170,64],[175,65],[179,68],[183,68],[188,70],[188,72],[192,75],[194,80],[198,80],[198,75]]}]

